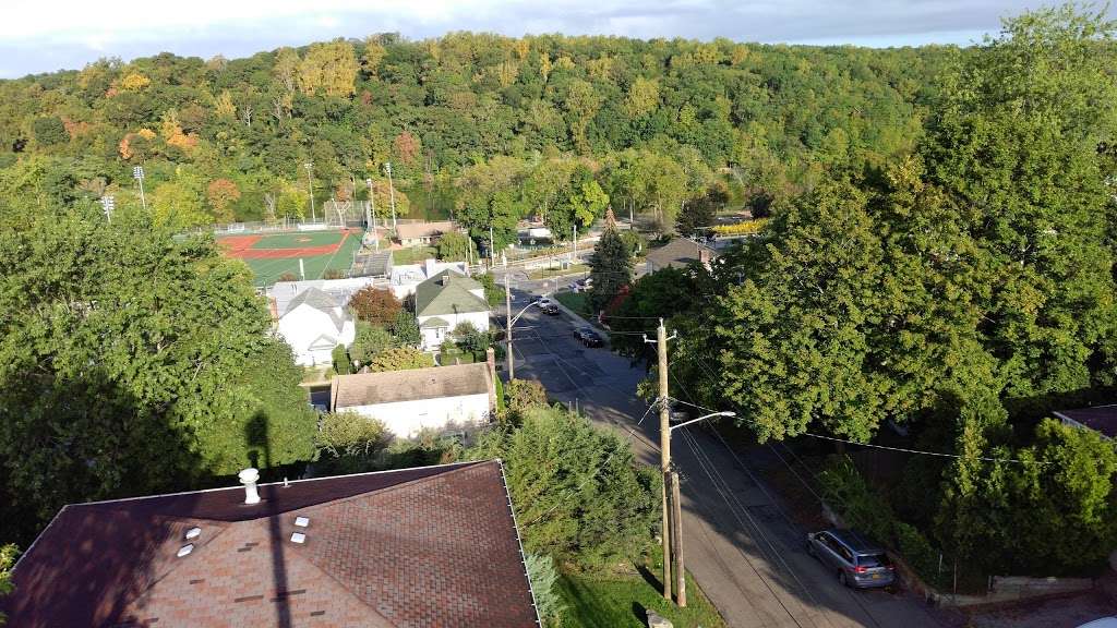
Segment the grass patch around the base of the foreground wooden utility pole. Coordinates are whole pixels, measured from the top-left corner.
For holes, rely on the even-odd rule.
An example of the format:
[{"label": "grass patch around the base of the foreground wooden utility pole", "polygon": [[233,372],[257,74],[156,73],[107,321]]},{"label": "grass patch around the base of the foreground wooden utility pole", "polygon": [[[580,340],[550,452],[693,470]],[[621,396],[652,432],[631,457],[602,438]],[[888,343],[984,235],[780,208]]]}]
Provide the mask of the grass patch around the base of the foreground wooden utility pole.
[{"label": "grass patch around the base of the foreground wooden utility pole", "polygon": [[[655,565],[649,569],[658,570]],[[675,628],[725,627],[689,573],[687,608],[665,600],[658,575],[643,569],[641,573],[615,577],[564,572],[558,578],[558,592],[566,606],[562,628],[640,628],[648,625],[649,608],[670,619]]]}]

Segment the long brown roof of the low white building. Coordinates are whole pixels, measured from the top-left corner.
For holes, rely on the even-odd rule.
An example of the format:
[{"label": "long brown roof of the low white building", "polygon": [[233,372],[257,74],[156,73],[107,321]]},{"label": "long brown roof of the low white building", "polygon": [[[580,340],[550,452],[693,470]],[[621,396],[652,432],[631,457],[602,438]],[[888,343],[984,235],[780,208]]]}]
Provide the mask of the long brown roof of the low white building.
[{"label": "long brown roof of the low white building", "polygon": [[416,401],[484,394],[494,386],[487,362],[430,367],[404,371],[337,375],[331,380],[331,407],[372,406],[394,401]]}]

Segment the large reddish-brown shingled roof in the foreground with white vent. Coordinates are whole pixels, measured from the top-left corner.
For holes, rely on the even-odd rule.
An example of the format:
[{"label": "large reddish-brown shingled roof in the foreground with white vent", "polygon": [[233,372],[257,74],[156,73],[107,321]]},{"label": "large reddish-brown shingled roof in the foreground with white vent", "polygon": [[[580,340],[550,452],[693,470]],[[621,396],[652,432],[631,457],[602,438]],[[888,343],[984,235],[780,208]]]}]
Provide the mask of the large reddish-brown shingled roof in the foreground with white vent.
[{"label": "large reddish-brown shingled roof in the foreground with white vent", "polygon": [[498,462],[259,491],[256,505],[235,487],[66,506],[0,611],[31,628],[537,626]]}]

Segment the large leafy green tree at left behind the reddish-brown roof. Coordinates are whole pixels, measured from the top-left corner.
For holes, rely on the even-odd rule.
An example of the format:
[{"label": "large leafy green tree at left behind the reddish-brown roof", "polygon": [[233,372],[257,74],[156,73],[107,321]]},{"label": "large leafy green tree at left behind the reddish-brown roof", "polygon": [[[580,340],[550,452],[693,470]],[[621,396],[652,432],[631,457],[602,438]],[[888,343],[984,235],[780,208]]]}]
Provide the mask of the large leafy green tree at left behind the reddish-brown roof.
[{"label": "large leafy green tree at left behind the reddish-brown roof", "polygon": [[[244,427],[268,394],[252,369],[290,369],[265,375],[276,387],[295,370],[289,350],[270,353],[242,264],[142,217],[108,225],[99,208],[23,212],[7,227],[0,536],[27,539],[66,503],[185,489],[248,462]],[[293,424],[271,436],[305,427]]]}]

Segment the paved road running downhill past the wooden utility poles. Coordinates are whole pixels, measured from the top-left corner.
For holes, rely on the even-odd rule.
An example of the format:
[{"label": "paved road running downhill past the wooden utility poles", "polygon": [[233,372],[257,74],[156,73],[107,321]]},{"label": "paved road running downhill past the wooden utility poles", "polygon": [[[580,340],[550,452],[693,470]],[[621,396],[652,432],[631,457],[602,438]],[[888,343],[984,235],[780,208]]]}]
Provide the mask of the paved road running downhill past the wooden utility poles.
[{"label": "paved road running downhill past the wooden utility poles", "polygon": [[[553,283],[514,279],[513,312],[552,288]],[[529,308],[514,330],[517,378],[536,379],[553,398],[615,427],[641,460],[658,466],[658,418],[633,393],[643,368],[607,349],[583,348],[573,339],[574,324],[565,314]],[[729,626],[935,628],[953,622],[908,593],[840,587],[806,555],[805,531],[784,516],[765,484],[760,451],[735,451],[701,428],[678,430],[672,445],[682,477],[687,568]]]}]

